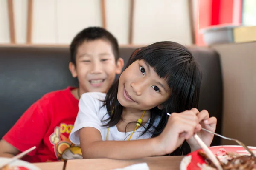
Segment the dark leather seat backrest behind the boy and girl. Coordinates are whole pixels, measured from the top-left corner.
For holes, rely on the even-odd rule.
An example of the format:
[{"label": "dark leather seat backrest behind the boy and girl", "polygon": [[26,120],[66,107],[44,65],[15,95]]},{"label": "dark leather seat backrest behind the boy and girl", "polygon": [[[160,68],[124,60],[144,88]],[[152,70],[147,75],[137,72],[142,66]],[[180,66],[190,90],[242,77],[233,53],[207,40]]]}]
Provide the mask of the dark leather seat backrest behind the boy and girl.
[{"label": "dark leather seat backrest behind the boy and girl", "polygon": [[[125,60],[137,47],[120,47]],[[207,47],[189,47],[203,73],[199,109],[218,119],[221,133],[222,77],[218,54]],[[0,137],[44,94],[77,86],[68,69],[68,47],[0,47]],[[215,138],[212,145],[220,144]]]}]

